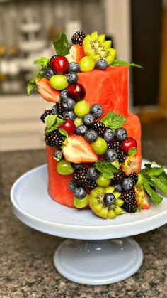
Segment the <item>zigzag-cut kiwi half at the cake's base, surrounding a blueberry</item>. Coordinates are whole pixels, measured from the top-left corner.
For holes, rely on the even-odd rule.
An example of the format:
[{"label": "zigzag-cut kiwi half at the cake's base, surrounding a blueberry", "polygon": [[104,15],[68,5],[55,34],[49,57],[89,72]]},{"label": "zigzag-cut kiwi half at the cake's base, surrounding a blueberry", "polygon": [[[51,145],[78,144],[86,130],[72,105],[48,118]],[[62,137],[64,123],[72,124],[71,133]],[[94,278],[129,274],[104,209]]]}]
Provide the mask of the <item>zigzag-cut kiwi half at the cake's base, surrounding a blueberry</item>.
[{"label": "zigzag-cut kiwi half at the cake's base, surrounding a blueberry", "polygon": [[[115,218],[117,215],[122,214],[122,208],[124,201],[120,198],[121,193],[114,191],[113,186],[106,188],[97,186],[94,188],[88,196],[88,203],[96,215],[101,218]],[[106,193],[113,193],[115,196],[115,202],[113,205],[106,205],[104,197]]]}]

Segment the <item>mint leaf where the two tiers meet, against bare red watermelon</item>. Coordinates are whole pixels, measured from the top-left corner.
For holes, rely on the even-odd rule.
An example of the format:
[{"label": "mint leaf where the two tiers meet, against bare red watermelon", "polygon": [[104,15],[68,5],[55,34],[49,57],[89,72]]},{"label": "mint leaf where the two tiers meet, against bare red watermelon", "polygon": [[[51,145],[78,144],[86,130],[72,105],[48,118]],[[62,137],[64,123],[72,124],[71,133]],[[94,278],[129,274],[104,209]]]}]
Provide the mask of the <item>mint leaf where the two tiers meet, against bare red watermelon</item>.
[{"label": "mint leaf where the two tiers meet, against bare red watermelon", "polygon": [[123,115],[115,114],[114,111],[109,112],[100,122],[103,122],[106,127],[115,131],[117,128],[125,124],[126,118]]}]

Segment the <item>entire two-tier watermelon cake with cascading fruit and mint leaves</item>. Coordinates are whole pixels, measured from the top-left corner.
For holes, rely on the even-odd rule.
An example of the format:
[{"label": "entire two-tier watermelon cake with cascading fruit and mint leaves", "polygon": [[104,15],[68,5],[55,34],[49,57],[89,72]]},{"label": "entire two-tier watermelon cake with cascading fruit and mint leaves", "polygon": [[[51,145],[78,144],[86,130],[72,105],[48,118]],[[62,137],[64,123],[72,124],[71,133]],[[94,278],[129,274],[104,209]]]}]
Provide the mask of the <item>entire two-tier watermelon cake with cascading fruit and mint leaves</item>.
[{"label": "entire two-tier watermelon cake with cascading fruit and mint leaves", "polygon": [[28,95],[37,87],[53,102],[40,117],[50,197],[101,218],[150,208],[150,199],[161,203],[164,167],[141,169],[141,124],[128,112],[129,67],[139,65],[118,60],[104,34],[77,31],[71,41],[60,33],[55,55],[35,60],[41,68],[28,83]]}]

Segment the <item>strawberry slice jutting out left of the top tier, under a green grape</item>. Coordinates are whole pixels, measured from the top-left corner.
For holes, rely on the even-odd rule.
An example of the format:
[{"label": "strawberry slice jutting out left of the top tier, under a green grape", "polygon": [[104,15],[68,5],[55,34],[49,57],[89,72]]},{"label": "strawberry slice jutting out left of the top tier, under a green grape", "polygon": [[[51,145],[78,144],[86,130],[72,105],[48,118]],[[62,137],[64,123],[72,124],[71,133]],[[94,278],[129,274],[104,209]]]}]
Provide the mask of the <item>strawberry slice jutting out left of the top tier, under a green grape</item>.
[{"label": "strawberry slice jutting out left of the top tier, under a green grape", "polygon": [[59,102],[59,91],[50,86],[50,81],[47,78],[42,78],[37,81],[37,88],[40,96],[48,102]]}]

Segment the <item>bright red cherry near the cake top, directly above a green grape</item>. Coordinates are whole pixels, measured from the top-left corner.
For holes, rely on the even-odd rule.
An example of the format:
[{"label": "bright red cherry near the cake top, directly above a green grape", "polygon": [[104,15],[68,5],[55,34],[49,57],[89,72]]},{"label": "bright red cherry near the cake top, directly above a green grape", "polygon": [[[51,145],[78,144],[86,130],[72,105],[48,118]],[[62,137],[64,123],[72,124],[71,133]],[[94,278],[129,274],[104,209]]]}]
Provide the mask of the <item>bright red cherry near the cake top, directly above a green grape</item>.
[{"label": "bright red cherry near the cake top, directly above a green grape", "polygon": [[64,56],[57,56],[51,61],[51,68],[57,75],[64,75],[69,69],[69,61]]}]

